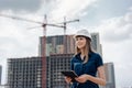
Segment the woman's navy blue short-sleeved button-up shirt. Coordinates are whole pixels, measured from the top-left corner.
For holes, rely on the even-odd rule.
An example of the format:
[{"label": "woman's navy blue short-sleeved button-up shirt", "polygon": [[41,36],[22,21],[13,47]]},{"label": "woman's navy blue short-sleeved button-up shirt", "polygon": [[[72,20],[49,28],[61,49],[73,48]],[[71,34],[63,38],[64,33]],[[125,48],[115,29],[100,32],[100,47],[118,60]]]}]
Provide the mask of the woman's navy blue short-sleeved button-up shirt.
[{"label": "woman's navy blue short-sleeved button-up shirt", "polygon": [[[89,53],[88,56],[88,62],[84,64],[84,61],[80,58],[80,54],[75,55],[70,63],[72,70],[75,70],[78,76],[88,74],[96,77],[97,68],[103,65],[102,58],[97,53]],[[90,80],[87,80],[84,84],[73,82],[72,88],[99,88],[99,86]]]}]

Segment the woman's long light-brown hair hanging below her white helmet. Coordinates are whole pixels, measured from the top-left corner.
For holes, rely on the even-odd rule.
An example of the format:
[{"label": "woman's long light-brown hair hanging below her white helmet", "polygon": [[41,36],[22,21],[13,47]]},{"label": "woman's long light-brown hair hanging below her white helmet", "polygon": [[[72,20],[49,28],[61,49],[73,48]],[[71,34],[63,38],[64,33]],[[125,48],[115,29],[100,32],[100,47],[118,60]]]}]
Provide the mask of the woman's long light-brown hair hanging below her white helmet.
[{"label": "woman's long light-brown hair hanging below her white helmet", "polygon": [[[85,37],[85,36],[82,36]],[[88,54],[94,52],[92,47],[91,47],[91,40],[89,37],[85,37],[86,38],[86,46],[84,48],[84,53],[85,53],[85,61],[84,63],[88,62]],[[75,55],[77,55],[78,53],[80,53],[80,50],[77,47],[77,45],[75,46]]]}]

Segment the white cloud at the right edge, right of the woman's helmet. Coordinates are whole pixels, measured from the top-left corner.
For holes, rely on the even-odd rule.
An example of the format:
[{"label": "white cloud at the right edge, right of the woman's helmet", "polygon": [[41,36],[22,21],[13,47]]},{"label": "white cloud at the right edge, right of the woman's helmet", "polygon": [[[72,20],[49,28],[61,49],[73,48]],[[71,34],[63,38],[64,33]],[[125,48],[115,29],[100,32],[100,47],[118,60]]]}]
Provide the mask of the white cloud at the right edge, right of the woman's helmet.
[{"label": "white cloud at the right edge, right of the woman's helmet", "polygon": [[105,20],[96,28],[102,38],[111,42],[122,42],[132,38],[132,13],[128,12],[123,16]]}]

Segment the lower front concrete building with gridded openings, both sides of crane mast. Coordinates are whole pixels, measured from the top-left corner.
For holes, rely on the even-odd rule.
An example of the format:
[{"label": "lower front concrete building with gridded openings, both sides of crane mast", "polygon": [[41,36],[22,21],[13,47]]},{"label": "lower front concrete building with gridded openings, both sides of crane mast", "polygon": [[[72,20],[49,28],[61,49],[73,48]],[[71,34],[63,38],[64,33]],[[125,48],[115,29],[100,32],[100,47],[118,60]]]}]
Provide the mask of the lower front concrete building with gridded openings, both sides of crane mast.
[{"label": "lower front concrete building with gridded openings, both sides of crane mast", "polygon": [[[70,69],[72,57],[73,54],[54,54],[46,57],[45,88],[70,87],[61,72]],[[42,84],[41,57],[8,59],[8,88],[43,88]]]}]

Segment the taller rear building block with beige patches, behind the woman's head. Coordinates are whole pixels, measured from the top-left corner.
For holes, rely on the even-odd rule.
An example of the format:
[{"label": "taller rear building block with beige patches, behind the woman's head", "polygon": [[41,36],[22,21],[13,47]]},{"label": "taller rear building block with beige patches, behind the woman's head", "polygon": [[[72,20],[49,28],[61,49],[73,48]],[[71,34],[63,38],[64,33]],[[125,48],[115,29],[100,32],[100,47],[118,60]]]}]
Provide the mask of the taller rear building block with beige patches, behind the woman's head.
[{"label": "taller rear building block with beige patches, behind the woman's head", "polygon": [[[101,44],[99,41],[99,33],[91,33],[91,45],[95,52],[98,52],[102,55]],[[74,35],[55,35],[47,36],[46,43],[43,43],[44,37],[40,38],[40,52],[38,55],[43,56],[43,47],[45,47],[45,55],[50,56],[51,54],[73,54],[75,53],[75,38]],[[45,44],[45,45],[44,45]]]}]

